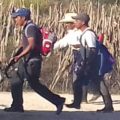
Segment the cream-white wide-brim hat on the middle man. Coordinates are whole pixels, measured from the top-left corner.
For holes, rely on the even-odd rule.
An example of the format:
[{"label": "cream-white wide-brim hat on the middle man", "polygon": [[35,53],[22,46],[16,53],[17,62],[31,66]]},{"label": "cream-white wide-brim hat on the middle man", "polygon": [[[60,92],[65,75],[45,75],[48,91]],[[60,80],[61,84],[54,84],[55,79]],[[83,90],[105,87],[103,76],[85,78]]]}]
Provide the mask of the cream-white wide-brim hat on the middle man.
[{"label": "cream-white wide-brim hat on the middle man", "polygon": [[73,19],[72,17],[77,16],[77,13],[66,13],[63,17],[62,20],[60,20],[59,22],[61,23],[66,23],[66,22],[75,22],[75,19]]}]

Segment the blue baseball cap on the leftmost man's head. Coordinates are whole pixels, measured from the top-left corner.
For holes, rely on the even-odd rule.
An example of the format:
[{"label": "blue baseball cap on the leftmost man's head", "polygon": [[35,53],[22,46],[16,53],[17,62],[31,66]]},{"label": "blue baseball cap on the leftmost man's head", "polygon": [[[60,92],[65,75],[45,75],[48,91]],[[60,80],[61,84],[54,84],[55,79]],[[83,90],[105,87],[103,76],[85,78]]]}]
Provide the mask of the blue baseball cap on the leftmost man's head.
[{"label": "blue baseball cap on the leftmost man's head", "polygon": [[11,16],[13,18],[17,17],[17,16],[23,16],[23,17],[30,17],[30,10],[27,9],[27,8],[20,8],[20,9],[17,9],[15,12],[13,12],[11,14]]}]

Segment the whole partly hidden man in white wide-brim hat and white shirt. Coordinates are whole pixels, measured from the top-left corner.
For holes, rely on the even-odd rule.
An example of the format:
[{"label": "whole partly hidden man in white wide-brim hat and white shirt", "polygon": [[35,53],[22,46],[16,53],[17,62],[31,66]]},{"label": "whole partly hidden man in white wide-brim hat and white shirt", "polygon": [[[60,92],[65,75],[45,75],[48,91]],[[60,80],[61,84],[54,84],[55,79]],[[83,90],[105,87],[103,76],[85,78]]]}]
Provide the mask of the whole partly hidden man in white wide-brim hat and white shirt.
[{"label": "whole partly hidden man in white wide-brim hat and white shirt", "polygon": [[[75,28],[75,20],[72,18],[74,16],[76,16],[77,13],[66,13],[64,15],[64,18],[62,20],[60,20],[60,23],[63,23],[67,34],[61,38],[59,41],[57,41],[54,44],[54,50],[55,49],[62,49],[64,47],[67,46],[71,46],[73,49],[73,55],[74,55],[74,60],[73,60],[73,64],[72,64],[72,71],[73,71],[73,81],[76,80],[76,73],[74,72],[74,64],[76,64],[76,57],[77,57],[77,53],[78,53],[78,49],[80,47],[80,35],[82,34],[81,30],[78,30]],[[78,58],[79,59],[79,58]],[[82,102],[87,103],[87,83],[84,82],[83,86],[83,96],[82,96]]]}]

